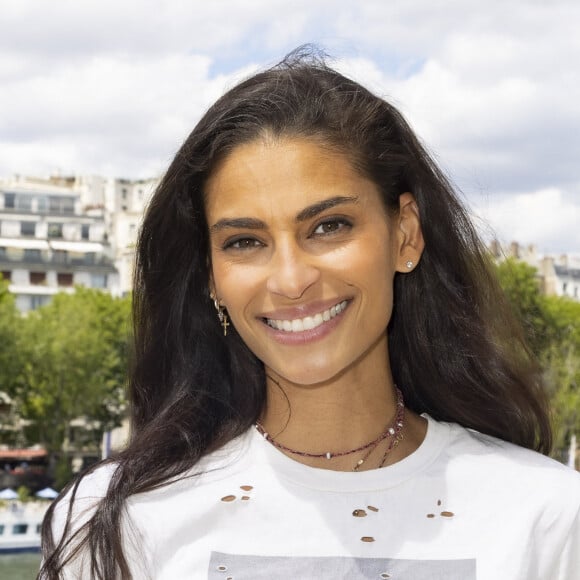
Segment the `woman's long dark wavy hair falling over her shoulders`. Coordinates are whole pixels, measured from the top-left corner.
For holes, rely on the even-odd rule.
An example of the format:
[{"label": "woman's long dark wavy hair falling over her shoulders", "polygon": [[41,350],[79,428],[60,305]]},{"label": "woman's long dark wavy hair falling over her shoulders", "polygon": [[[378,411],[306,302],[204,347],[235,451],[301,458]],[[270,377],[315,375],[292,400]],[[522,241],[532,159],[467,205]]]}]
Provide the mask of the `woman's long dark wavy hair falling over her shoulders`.
[{"label": "woman's long dark wavy hair falling over her shoulders", "polygon": [[[393,378],[407,406],[549,450],[541,374],[452,186],[395,108],[300,49],[221,97],[153,196],[136,254],[130,442],[94,515],[75,533],[69,525],[58,543],[51,507],[39,578],[60,578],[81,551],[92,577],[131,578],[120,531],[127,498],[192,473],[260,415],[263,365],[235,329],[223,336],[209,296],[204,184],[231,151],[264,135],[315,139],[346,154],[393,211],[402,193],[414,194],[425,250],[412,273],[395,278],[388,327]],[[74,498],[81,479],[61,497]]]}]

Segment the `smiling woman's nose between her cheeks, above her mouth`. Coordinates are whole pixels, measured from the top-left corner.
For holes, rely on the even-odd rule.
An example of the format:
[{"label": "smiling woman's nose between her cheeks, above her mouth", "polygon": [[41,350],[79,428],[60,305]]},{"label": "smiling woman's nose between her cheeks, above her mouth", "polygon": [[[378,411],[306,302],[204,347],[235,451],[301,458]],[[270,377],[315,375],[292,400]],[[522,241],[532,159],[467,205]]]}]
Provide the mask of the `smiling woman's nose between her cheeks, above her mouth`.
[{"label": "smiling woman's nose between her cheeks, above her mouth", "polygon": [[266,284],[273,294],[296,300],[320,278],[320,270],[306,252],[295,245],[279,247],[271,258]]}]

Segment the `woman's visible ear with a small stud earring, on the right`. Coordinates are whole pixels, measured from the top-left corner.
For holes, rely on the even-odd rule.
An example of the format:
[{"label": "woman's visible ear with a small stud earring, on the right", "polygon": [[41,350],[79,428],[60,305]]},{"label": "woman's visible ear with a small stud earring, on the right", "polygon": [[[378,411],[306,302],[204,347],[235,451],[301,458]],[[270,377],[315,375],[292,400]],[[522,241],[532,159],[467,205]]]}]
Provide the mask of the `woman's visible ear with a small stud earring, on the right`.
[{"label": "woman's visible ear with a small stud earring, on the right", "polygon": [[398,253],[396,257],[397,272],[411,272],[417,267],[425,247],[419,206],[412,193],[403,193],[399,197],[399,213],[395,218],[397,225]]}]

